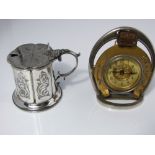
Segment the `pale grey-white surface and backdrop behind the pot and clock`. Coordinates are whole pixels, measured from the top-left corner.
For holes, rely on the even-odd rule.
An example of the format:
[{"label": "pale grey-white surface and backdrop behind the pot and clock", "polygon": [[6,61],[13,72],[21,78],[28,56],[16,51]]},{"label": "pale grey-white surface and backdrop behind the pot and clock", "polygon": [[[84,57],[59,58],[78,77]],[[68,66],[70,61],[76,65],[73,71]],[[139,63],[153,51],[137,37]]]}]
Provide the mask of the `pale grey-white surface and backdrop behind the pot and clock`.
[{"label": "pale grey-white surface and backdrop behind the pot and clock", "polygon": [[[155,42],[155,20],[0,20],[0,134],[154,134],[155,79],[143,102],[128,110],[99,104],[88,74],[88,58],[95,42],[118,26],[132,26]],[[60,80],[63,97],[52,109],[25,112],[12,102],[15,88],[7,55],[24,43],[50,43],[53,48],[80,52],[78,69]],[[67,71],[74,59],[63,57],[54,69]]]}]

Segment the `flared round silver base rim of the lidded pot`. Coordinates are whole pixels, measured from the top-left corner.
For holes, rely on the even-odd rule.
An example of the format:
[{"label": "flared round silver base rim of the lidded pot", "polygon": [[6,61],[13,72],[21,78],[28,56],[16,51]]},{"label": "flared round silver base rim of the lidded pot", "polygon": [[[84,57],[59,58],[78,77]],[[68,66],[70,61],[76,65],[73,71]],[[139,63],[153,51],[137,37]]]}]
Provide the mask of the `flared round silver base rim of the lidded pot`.
[{"label": "flared round silver base rim of the lidded pot", "polygon": [[43,111],[46,109],[49,109],[51,107],[53,107],[56,103],[59,102],[59,100],[62,97],[62,90],[61,87],[58,85],[57,86],[57,92],[56,92],[56,97],[55,98],[51,98],[50,100],[47,100],[41,104],[38,105],[34,105],[34,104],[30,104],[30,103],[26,103],[24,101],[22,101],[21,99],[19,99],[19,97],[16,95],[16,92],[13,92],[12,95],[12,99],[14,104],[25,111]]}]

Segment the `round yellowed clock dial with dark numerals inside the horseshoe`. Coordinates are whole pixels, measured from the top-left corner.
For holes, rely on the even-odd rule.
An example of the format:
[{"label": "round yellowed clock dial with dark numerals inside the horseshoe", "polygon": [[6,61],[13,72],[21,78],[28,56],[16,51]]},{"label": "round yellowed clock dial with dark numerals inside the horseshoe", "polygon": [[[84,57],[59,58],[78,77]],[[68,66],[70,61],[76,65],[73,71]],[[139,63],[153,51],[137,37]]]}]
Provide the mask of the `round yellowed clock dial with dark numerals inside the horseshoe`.
[{"label": "round yellowed clock dial with dark numerals inside the horseshoe", "polygon": [[115,91],[133,89],[142,77],[141,65],[130,56],[117,56],[109,60],[103,74],[106,85]]}]

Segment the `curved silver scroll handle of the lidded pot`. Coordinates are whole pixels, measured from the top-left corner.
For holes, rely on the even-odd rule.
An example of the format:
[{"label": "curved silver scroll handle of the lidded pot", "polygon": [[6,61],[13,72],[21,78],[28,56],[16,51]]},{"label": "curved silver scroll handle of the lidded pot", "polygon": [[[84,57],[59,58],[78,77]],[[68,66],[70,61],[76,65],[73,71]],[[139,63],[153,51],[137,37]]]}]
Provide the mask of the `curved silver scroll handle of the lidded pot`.
[{"label": "curved silver scroll handle of the lidded pot", "polygon": [[75,66],[69,72],[60,73],[60,71],[58,71],[58,76],[56,77],[56,80],[58,80],[60,77],[63,77],[65,79],[66,76],[73,73],[75,71],[75,69],[77,68],[77,66],[78,66],[78,57],[80,56],[80,53],[75,53],[75,52],[73,52],[73,51],[71,51],[69,49],[56,49],[56,50],[54,50],[54,53],[55,53],[55,59],[58,59],[59,61],[61,61],[61,56],[64,55],[64,54],[70,54],[76,60]]}]

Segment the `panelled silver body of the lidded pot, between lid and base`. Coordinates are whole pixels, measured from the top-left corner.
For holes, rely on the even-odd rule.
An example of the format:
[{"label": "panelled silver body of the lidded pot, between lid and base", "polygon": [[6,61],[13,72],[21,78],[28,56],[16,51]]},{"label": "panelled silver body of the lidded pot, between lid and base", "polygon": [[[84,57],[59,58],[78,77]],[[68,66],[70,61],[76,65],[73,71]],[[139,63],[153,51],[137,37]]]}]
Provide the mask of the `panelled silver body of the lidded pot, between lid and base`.
[{"label": "panelled silver body of the lidded pot, between lid and base", "polygon": [[13,68],[16,95],[30,104],[43,103],[56,95],[52,65],[31,70]]}]

